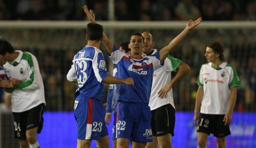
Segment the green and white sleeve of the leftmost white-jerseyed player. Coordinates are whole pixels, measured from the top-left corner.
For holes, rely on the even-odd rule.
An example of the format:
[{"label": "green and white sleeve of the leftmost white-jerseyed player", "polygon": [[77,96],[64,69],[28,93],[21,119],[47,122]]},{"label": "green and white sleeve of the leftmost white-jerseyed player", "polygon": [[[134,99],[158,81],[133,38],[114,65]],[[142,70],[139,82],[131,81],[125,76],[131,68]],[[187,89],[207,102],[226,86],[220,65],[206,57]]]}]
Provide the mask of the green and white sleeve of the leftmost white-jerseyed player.
[{"label": "green and white sleeve of the leftmost white-jerseyed player", "polygon": [[[22,55],[22,59],[25,59],[28,62],[27,69],[29,71],[29,78],[27,80],[22,81],[16,89],[23,89],[23,90],[33,90],[38,88],[38,77],[34,73],[34,62],[37,63],[38,61],[36,57],[32,58],[32,56],[28,52],[24,52]],[[40,73],[39,68],[37,69],[37,73]]]}]

